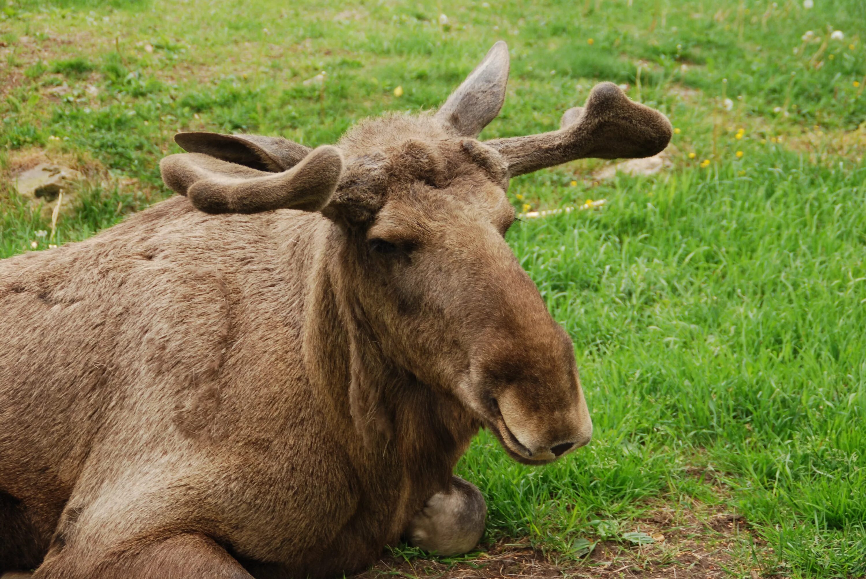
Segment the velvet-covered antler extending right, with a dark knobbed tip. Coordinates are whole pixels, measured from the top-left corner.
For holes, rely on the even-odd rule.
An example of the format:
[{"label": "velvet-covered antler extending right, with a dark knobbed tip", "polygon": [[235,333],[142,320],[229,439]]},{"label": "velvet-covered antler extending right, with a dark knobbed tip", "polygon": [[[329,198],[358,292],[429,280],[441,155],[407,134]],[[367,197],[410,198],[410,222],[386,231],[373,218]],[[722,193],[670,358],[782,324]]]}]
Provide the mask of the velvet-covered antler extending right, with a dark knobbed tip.
[{"label": "velvet-covered antler extending right, with a dark knobbed tip", "polygon": [[511,177],[578,158],[641,158],[662,151],[670,121],[630,100],[612,82],[596,85],[586,104],[565,112],[559,131],[487,141],[506,158]]}]

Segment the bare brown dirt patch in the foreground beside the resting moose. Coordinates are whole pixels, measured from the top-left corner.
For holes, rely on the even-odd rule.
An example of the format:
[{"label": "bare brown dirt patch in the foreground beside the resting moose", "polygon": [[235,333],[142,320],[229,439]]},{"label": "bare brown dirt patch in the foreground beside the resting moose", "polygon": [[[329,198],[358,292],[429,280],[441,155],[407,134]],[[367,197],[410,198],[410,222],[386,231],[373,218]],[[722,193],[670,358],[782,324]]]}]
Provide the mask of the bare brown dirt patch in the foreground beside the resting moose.
[{"label": "bare brown dirt patch in the foreground beside the resting moose", "polygon": [[747,556],[754,546],[766,544],[753,536],[742,515],[712,512],[701,505],[675,511],[660,506],[634,524],[654,543],[632,545],[628,541],[599,541],[580,561],[557,553],[533,549],[527,539],[482,544],[481,552],[459,563],[435,558],[405,560],[385,556],[352,579],[384,576],[436,577],[442,579],[493,579],[494,577],[574,577],[580,579],[713,579],[727,576],[762,576]]}]

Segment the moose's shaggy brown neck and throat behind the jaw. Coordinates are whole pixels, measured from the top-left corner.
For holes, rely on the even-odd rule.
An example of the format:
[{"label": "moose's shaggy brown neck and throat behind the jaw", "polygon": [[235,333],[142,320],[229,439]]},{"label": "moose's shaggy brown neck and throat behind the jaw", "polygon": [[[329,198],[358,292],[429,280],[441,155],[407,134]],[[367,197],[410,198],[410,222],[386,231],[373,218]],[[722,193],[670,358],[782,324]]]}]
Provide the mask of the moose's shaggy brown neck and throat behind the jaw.
[{"label": "moose's shaggy brown neck and throat behind the jaw", "polygon": [[427,499],[449,486],[480,423],[456,396],[420,382],[378,349],[352,289],[346,237],[336,226],[322,233],[305,300],[313,396],[356,464],[369,465],[374,477],[397,470],[404,490]]}]

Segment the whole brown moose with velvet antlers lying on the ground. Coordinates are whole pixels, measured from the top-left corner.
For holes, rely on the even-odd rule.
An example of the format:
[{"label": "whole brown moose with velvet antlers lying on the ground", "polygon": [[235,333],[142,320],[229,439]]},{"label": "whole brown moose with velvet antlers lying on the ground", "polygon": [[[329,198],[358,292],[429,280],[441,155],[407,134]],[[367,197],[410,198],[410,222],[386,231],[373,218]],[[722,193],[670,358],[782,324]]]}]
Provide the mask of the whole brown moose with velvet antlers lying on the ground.
[{"label": "whole brown moose with velvet antlers lying on the ground", "polygon": [[497,42],[435,113],[337,145],[182,132],[177,192],[0,261],[0,574],[333,576],[475,548],[479,428],[542,465],[592,426],[571,339],[504,239],[510,177],[662,151],[611,83],[559,130],[479,141]]}]

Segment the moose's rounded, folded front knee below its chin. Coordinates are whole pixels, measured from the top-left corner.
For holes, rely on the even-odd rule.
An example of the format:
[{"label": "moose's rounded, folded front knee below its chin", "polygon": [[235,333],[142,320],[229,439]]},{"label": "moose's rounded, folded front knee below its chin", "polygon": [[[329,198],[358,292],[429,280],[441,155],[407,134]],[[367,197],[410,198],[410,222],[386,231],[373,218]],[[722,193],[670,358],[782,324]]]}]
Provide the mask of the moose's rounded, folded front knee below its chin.
[{"label": "moose's rounded, folded front knee below its chin", "polygon": [[478,487],[451,477],[449,492],[436,492],[406,529],[409,544],[440,556],[475,549],[484,534],[487,505]]}]

